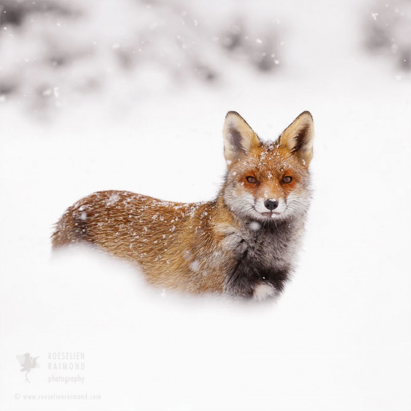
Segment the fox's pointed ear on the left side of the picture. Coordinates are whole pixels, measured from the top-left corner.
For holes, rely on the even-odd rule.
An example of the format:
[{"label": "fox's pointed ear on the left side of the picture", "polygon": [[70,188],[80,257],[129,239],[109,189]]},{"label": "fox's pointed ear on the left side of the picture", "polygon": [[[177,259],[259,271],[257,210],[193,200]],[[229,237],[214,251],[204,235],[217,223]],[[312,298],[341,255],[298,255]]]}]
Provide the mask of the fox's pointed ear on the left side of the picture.
[{"label": "fox's pointed ear on the left side of the picture", "polygon": [[236,111],[229,111],[222,130],[224,138],[224,156],[227,164],[248,155],[253,148],[258,147],[258,137]]}]

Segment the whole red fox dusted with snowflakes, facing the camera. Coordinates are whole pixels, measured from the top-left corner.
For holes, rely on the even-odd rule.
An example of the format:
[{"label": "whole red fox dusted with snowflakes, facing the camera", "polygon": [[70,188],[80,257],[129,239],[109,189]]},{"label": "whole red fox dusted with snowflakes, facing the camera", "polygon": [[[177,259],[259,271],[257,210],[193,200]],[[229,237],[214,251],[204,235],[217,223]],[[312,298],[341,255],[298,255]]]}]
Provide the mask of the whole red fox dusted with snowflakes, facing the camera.
[{"label": "whole red fox dusted with snowflakes, facing the camera", "polygon": [[87,242],[138,265],[148,282],[190,293],[265,300],[293,271],[311,190],[314,124],[300,114],[263,142],[235,111],[223,126],[227,173],[204,203],[101,191],[71,206],[54,248]]}]

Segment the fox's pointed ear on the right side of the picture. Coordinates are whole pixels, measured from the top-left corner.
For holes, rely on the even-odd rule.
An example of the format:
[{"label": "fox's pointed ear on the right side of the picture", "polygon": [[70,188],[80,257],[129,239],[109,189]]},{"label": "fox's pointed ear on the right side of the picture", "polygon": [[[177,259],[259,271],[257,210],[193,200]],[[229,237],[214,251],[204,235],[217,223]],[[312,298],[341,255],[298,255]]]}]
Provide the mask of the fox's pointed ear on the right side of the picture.
[{"label": "fox's pointed ear on the right side of the picture", "polygon": [[312,159],[313,140],[314,122],[309,111],[301,113],[279,137],[280,145],[285,146],[307,166]]}]

